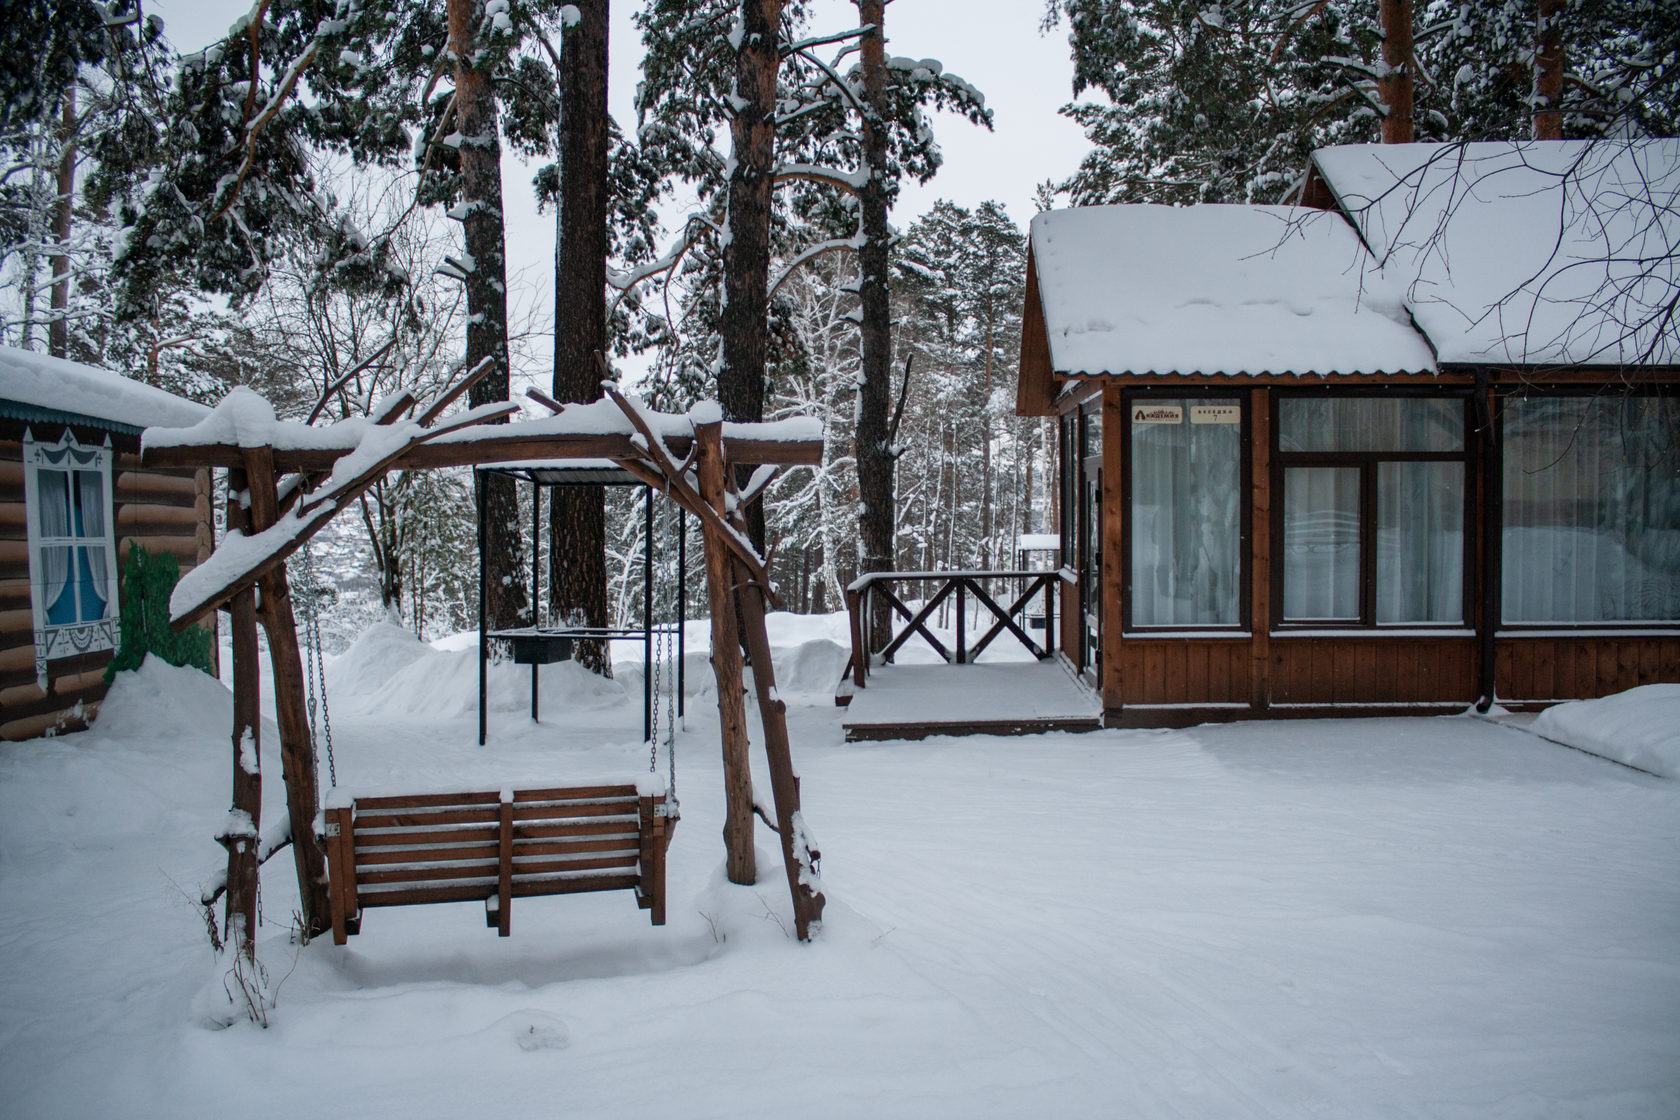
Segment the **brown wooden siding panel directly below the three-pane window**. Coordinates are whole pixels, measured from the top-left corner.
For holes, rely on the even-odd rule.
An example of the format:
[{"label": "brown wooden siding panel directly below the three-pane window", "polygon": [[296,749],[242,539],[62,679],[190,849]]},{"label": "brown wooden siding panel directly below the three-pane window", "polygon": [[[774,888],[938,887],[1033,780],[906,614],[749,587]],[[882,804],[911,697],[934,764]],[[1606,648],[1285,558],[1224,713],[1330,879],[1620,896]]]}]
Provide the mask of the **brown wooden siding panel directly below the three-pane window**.
[{"label": "brown wooden siding panel directly below the three-pane window", "polygon": [[1475,638],[1272,636],[1273,705],[1472,704]]}]

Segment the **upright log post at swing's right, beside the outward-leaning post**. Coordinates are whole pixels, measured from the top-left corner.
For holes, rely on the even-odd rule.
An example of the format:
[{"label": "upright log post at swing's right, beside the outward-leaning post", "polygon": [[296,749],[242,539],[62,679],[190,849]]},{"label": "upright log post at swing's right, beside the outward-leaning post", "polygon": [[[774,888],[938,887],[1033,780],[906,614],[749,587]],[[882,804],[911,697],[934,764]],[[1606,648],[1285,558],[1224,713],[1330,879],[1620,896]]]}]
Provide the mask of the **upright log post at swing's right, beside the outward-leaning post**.
[{"label": "upright log post at swing's right, beside the outward-leaning post", "polygon": [[[696,425],[696,474],[701,494],[719,512],[724,494],[722,421]],[[699,510],[696,510],[699,512]],[[741,683],[741,631],[731,583],[729,546],[701,519],[706,544],[706,598],[712,615],[712,672],[717,677],[717,724],[724,746],[724,850],[731,883],[758,882],[753,851],[753,761],[746,739],[746,688]]]}]

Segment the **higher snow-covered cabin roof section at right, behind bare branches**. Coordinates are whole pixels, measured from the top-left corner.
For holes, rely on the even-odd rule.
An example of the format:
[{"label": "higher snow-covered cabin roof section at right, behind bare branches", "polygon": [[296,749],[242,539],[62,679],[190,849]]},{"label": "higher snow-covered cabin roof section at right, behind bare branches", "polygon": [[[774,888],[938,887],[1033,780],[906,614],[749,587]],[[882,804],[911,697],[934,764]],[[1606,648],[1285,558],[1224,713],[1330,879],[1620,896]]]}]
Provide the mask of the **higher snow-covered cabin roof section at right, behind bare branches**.
[{"label": "higher snow-covered cabin roof section at right, behind bare branches", "polygon": [[1349,144],[1314,163],[1440,361],[1680,361],[1680,139]]}]

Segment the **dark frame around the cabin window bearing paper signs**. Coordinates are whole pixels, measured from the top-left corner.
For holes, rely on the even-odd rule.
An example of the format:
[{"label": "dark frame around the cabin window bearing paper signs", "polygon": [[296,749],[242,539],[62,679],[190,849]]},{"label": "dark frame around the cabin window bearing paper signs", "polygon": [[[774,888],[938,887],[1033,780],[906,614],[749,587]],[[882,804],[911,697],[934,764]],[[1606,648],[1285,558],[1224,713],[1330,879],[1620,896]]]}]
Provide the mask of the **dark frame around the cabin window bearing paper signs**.
[{"label": "dark frame around the cabin window bearing paper signs", "polygon": [[[1220,636],[1243,636],[1250,633],[1253,616],[1253,416],[1250,415],[1248,391],[1245,388],[1223,385],[1183,385],[1183,386],[1137,386],[1121,391],[1121,465],[1124,468],[1124,485],[1121,487],[1121,633],[1124,638],[1171,638],[1181,633],[1206,633]],[[1139,626],[1132,621],[1132,403],[1151,400],[1183,400],[1198,405],[1236,405],[1242,415],[1236,432],[1236,485],[1242,492],[1238,500],[1236,526],[1236,621],[1235,623],[1173,623]]]}]

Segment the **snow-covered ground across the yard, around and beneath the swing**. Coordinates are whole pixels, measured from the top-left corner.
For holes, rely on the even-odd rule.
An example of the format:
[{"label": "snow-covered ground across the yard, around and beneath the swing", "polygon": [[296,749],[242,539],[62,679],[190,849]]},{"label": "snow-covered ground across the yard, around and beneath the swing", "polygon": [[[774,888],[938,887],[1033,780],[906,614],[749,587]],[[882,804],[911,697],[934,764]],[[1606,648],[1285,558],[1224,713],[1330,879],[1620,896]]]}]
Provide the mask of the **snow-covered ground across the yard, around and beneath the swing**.
[{"label": "snow-covered ground across the yard, around and beneath the swing", "polygon": [[[1680,1115],[1677,782],[1477,719],[847,746],[832,626],[774,631],[815,944],[769,833],[759,887],[719,882],[696,692],[667,927],[606,893],[519,900],[506,940],[462,903],[297,947],[281,855],[267,1031],[213,1026],[188,902],[222,858],[222,685],[148,667],[94,730],[7,744],[0,1113]],[[480,749],[472,658],[376,631],[336,662],[339,781],[647,767],[638,667],[546,670],[541,727],[499,668]],[[272,729],[264,769],[279,819]]]}]

